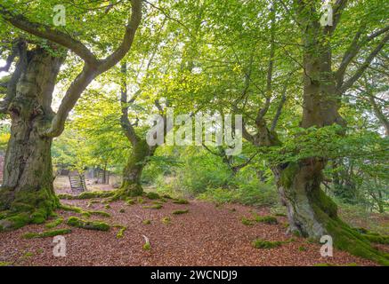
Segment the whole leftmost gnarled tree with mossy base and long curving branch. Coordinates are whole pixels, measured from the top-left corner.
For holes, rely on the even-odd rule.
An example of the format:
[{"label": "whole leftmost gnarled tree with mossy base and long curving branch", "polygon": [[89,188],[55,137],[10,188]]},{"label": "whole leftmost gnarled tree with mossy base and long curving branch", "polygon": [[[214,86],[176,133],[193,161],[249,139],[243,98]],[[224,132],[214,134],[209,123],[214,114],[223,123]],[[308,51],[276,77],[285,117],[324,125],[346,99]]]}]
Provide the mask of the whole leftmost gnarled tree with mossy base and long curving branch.
[{"label": "whole leftmost gnarled tree with mossy base and long curving branch", "polygon": [[[4,182],[0,190],[0,209],[6,210],[0,221],[2,229],[31,222],[42,223],[59,206],[58,198],[53,193],[50,152],[53,138],[61,135],[69,112],[93,79],[126,56],[142,19],[141,0],[131,1],[129,17],[126,15],[128,4],[117,3],[107,7],[96,3],[79,10],[68,7],[67,22],[73,19],[77,22],[70,26],[73,29],[69,32],[66,26],[53,25],[49,12],[53,10],[52,4],[34,1],[28,5],[27,11],[22,6],[24,4],[17,1],[0,4],[0,16],[5,27],[20,35],[15,39],[16,43],[4,67],[8,70],[12,61],[18,59],[1,107],[2,112],[9,114],[12,119]],[[44,21],[40,21],[42,12],[46,12]],[[115,16],[115,25],[109,26],[109,31],[103,30],[101,43],[95,43],[93,37],[97,35],[93,35],[93,28],[96,31],[108,28],[97,27],[104,15],[108,15],[104,21],[113,19],[109,16],[110,12]],[[118,14],[123,17],[121,20],[118,20]],[[84,20],[91,20],[93,24],[86,23],[83,27]],[[124,29],[122,41],[101,46],[104,42],[102,39],[112,40],[107,33],[113,28]],[[53,54],[53,50],[59,52]],[[61,105],[54,113],[51,108],[53,89],[66,51],[74,52],[82,59],[84,67],[70,83]],[[107,52],[108,56],[101,56]]]}]

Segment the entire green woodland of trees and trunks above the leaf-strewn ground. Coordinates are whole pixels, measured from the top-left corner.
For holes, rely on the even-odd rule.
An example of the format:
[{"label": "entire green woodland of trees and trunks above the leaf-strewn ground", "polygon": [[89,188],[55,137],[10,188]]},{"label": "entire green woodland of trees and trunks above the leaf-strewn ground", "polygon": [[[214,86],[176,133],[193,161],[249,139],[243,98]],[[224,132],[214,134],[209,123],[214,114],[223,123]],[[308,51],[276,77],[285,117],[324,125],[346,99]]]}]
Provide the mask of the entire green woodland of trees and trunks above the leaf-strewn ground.
[{"label": "entire green woodland of trees and trunks above the leaf-strewn ground", "polygon": [[[353,220],[389,210],[388,11],[381,0],[2,0],[0,232],[85,193],[156,193],[266,208],[289,235],[330,235],[389,264]],[[63,194],[63,170],[116,178],[108,193]],[[389,243],[387,222],[369,225]]]}]

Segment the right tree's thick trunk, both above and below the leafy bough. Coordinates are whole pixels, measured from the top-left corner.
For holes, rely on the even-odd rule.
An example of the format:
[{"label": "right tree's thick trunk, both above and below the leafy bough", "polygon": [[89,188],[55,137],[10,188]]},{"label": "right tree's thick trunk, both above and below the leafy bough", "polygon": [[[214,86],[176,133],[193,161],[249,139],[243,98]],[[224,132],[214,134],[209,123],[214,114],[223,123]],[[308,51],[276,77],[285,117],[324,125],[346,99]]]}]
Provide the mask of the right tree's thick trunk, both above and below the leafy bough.
[{"label": "right tree's thick trunk, both above and below the leafy bough", "polygon": [[[304,107],[301,126],[344,125],[338,113],[340,93],[332,72],[332,55],[325,28],[314,18],[311,2],[299,2],[298,18],[304,26]],[[307,9],[309,8],[309,9]],[[320,189],[325,157],[289,162],[273,169],[281,196],[288,209],[289,230],[317,241],[333,238],[336,248],[389,264],[389,258],[372,248],[369,241],[337,217],[335,202]]]}]

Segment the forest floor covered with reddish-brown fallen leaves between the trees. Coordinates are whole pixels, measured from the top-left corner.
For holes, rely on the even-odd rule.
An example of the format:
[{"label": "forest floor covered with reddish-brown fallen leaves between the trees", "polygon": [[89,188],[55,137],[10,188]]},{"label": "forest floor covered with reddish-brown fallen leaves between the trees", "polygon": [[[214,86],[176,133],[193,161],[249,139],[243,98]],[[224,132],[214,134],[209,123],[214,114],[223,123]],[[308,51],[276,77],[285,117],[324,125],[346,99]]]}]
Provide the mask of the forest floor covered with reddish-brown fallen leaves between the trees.
[{"label": "forest floor covered with reddish-brown fallen leaves between the trees", "polygon": [[[96,185],[97,186],[97,185]],[[109,188],[107,188],[109,189]],[[59,192],[67,192],[63,189]],[[0,234],[0,263],[9,265],[376,265],[369,260],[334,250],[333,257],[320,256],[320,245],[303,238],[286,235],[286,217],[277,217],[277,225],[256,223],[242,224],[242,217],[253,214],[267,216],[269,209],[229,204],[215,206],[206,201],[190,201],[175,204],[167,200],[161,209],[148,209],[153,201],[144,198],[144,204],[127,205],[124,201],[105,204],[96,200],[62,200],[62,204],[85,210],[101,210],[110,217],[101,220],[109,225],[127,227],[123,238],[118,239],[119,228],[108,232],[90,231],[71,227],[64,235],[64,257],[53,256],[53,237],[24,239],[24,233],[40,233],[45,225],[28,225],[19,230]],[[189,209],[188,213],[174,215],[177,209]],[[80,214],[58,210],[65,220],[71,216],[85,219]],[[170,222],[163,222],[169,217]],[[150,220],[150,224],[144,224]],[[70,228],[62,223],[55,229]],[[150,250],[145,250],[144,237],[150,240]],[[277,248],[253,248],[255,239],[285,241]]]}]

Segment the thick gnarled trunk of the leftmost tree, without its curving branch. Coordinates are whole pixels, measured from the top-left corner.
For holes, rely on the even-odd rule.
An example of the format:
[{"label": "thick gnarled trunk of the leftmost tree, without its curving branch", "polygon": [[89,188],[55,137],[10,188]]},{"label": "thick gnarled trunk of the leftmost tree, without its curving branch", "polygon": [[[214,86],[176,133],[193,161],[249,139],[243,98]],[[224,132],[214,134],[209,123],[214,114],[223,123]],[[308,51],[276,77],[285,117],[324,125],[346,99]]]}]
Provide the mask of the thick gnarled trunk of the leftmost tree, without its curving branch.
[{"label": "thick gnarled trunk of the leftmost tree, without its curving branch", "polygon": [[0,189],[0,231],[42,223],[59,205],[53,191],[52,138],[42,137],[40,130],[53,117],[50,105],[61,61],[40,48],[20,54],[17,67],[22,70],[8,106],[12,126]]}]

